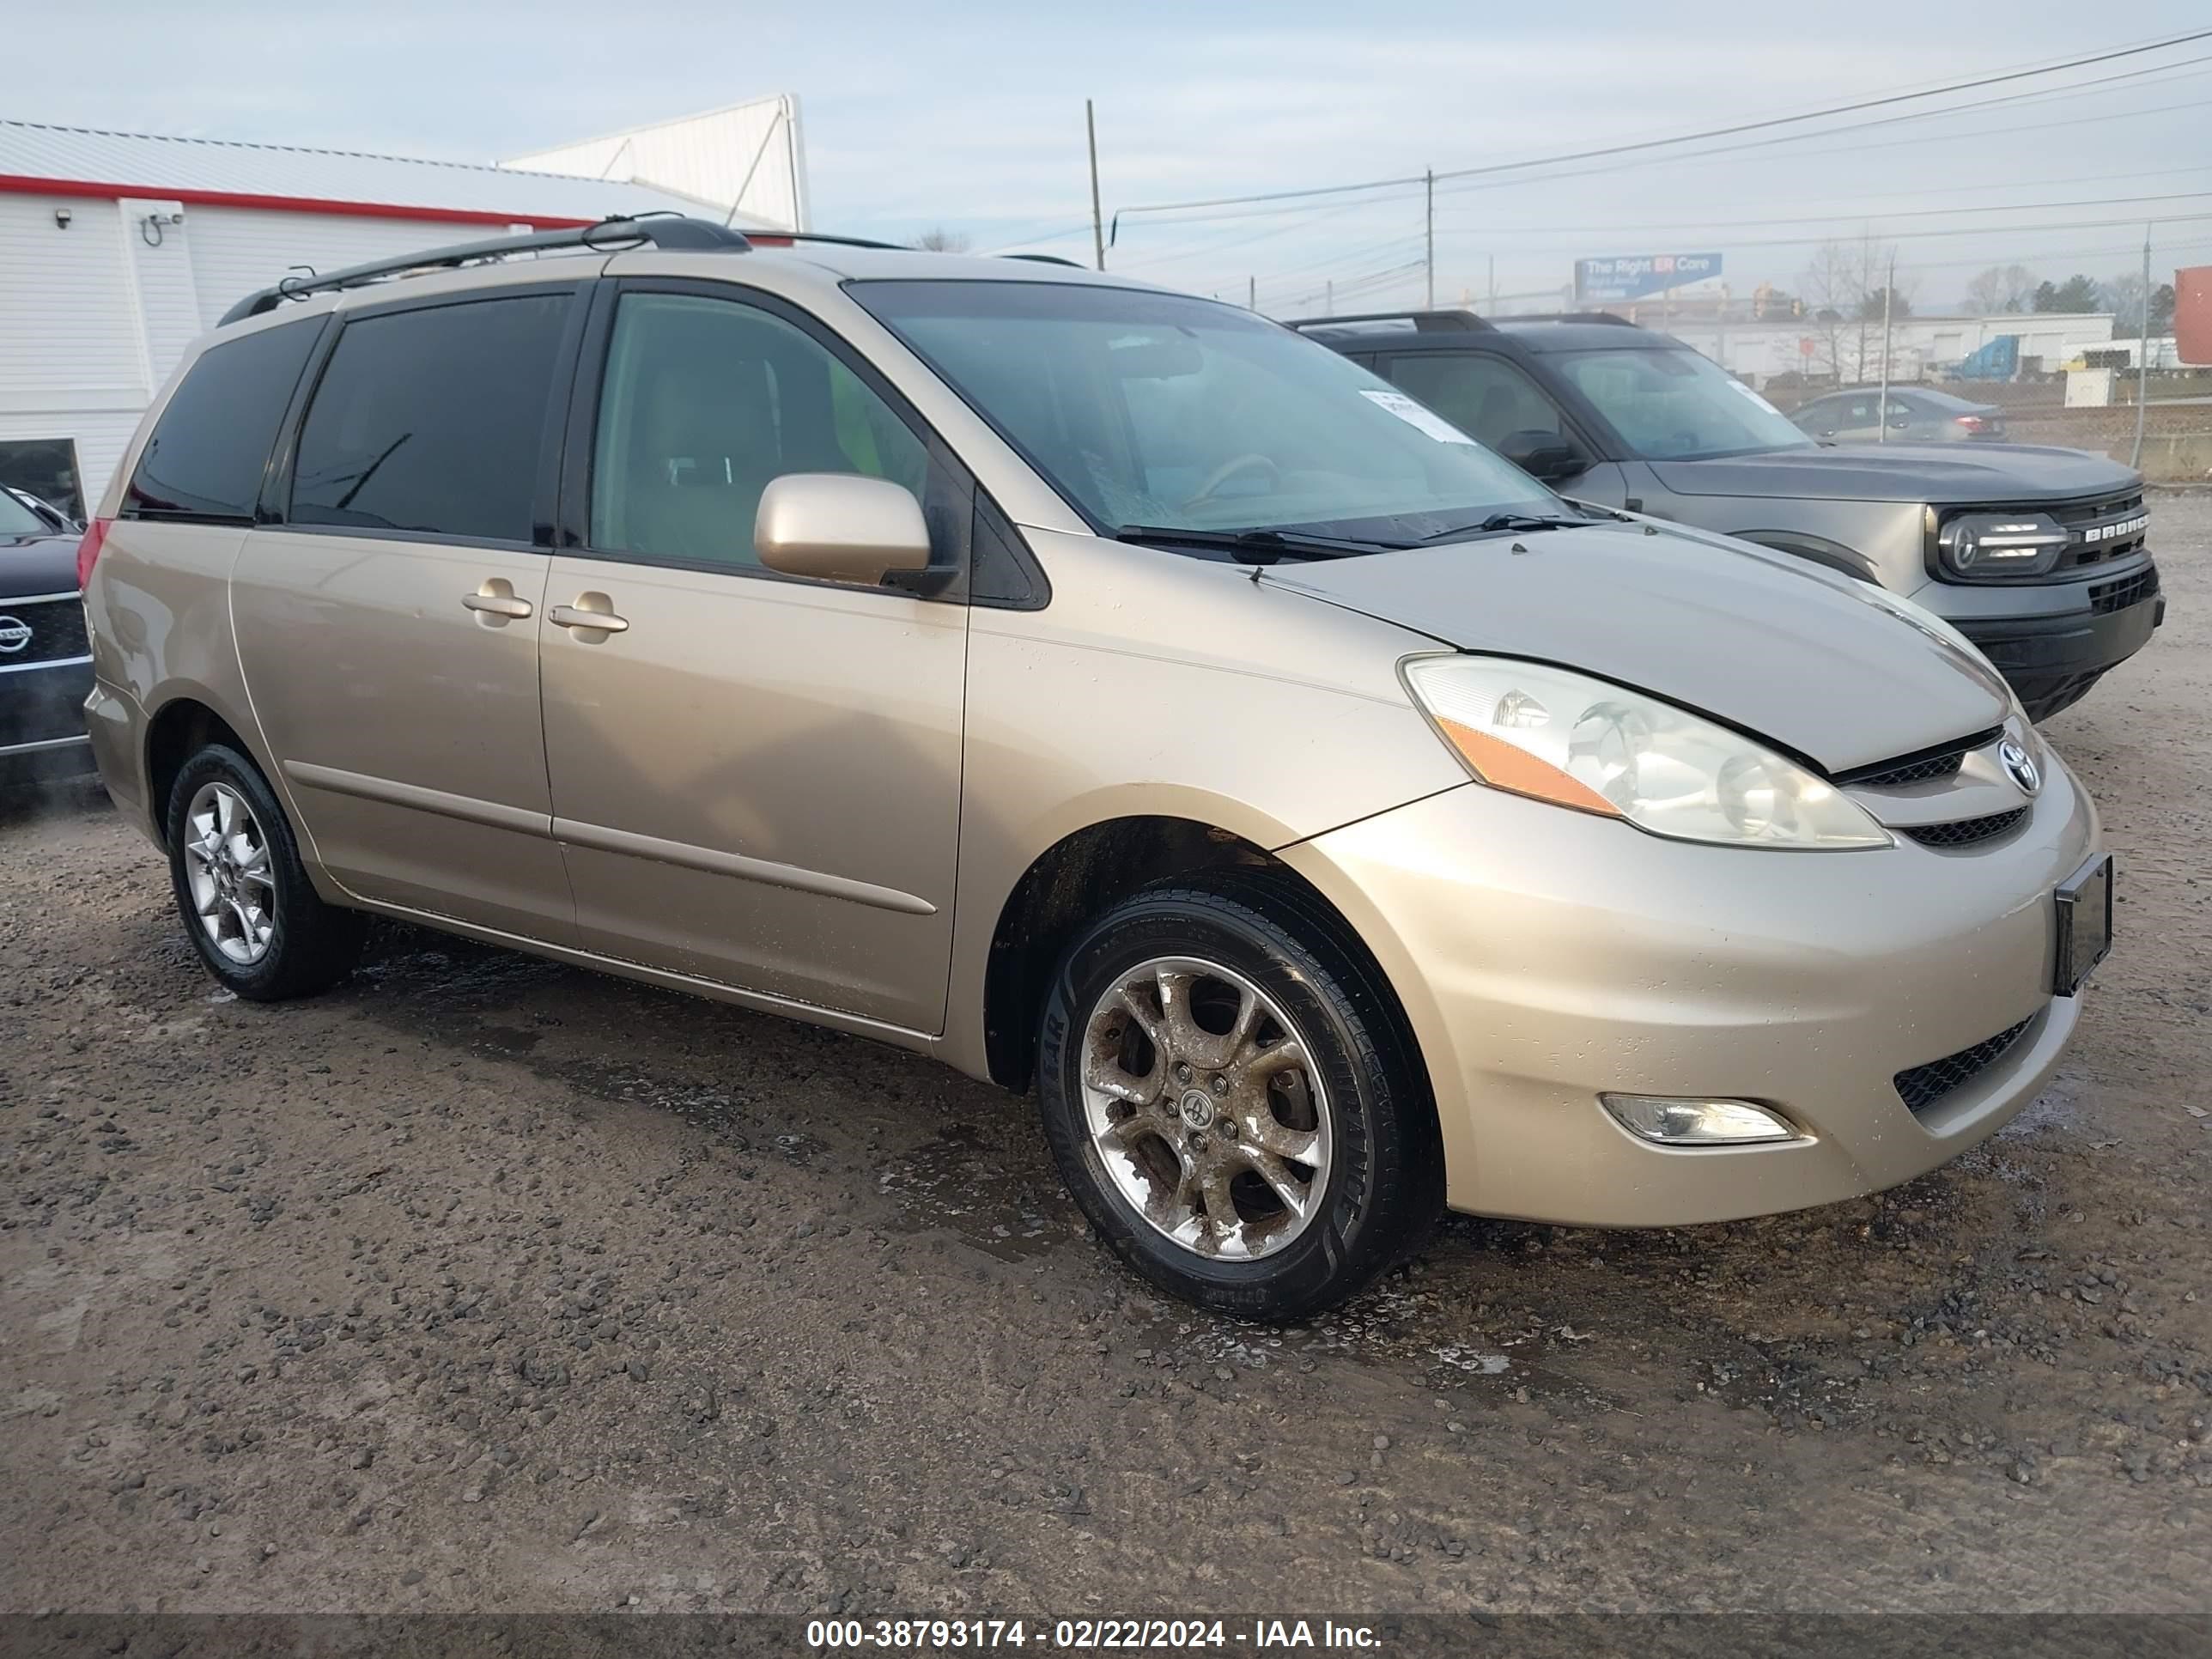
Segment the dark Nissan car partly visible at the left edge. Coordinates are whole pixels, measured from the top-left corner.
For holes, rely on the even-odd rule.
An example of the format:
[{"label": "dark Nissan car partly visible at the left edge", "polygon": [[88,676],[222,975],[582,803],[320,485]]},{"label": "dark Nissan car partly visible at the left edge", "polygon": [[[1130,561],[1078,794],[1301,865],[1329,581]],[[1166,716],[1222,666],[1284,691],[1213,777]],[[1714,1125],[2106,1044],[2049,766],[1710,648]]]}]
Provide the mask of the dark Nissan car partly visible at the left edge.
[{"label": "dark Nissan car partly visible at the left edge", "polygon": [[77,538],[0,489],[0,785],[93,770]]}]

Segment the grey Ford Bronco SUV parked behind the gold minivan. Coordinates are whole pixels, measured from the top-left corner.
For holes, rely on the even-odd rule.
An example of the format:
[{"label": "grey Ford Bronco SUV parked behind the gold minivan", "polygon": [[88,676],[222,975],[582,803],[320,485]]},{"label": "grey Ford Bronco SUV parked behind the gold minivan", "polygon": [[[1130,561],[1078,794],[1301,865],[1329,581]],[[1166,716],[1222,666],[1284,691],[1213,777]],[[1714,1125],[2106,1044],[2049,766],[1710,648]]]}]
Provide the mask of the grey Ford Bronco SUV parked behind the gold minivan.
[{"label": "grey Ford Bronco SUV parked behind the gold minivan", "polygon": [[1292,323],[1575,500],[1679,520],[1911,597],[2033,719],[2166,617],[2141,473],[2081,449],[1832,447],[1681,341],[1604,312]]}]

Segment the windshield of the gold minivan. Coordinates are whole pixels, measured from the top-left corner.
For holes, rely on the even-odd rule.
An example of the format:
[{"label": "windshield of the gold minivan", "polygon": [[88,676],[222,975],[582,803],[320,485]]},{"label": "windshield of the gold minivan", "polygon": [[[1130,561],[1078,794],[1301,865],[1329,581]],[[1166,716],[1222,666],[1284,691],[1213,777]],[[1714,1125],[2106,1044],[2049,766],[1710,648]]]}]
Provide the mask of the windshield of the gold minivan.
[{"label": "windshield of the gold minivan", "polygon": [[1106,535],[1402,546],[1495,515],[1573,515],[1389,383],[1234,305],[1033,281],[847,292]]}]

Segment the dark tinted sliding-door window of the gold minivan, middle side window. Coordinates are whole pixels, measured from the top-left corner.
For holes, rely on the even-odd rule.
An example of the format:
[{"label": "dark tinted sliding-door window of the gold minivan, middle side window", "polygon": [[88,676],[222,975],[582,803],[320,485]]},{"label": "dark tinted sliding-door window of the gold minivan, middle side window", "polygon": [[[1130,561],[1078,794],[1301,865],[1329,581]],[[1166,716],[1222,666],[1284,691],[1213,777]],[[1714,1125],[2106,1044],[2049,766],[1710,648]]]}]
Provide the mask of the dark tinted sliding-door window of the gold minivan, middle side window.
[{"label": "dark tinted sliding-door window of the gold minivan, middle side window", "polygon": [[299,436],[292,522],[529,542],[566,294],[345,325]]}]

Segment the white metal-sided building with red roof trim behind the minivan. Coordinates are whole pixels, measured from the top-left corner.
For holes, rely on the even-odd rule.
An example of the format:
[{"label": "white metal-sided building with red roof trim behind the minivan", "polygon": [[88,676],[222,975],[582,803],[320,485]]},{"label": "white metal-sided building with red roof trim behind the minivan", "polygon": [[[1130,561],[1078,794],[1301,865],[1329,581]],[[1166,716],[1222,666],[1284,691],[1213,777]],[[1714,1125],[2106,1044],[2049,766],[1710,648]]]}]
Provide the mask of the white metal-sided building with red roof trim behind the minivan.
[{"label": "white metal-sided building with red roof trim behind the minivan", "polygon": [[[796,135],[796,111],[787,126]],[[703,157],[686,177],[712,184],[748,159],[717,170]],[[803,206],[796,150],[783,188]],[[184,347],[288,270],[619,212],[790,228],[737,210],[737,197],[613,173],[0,122],[0,482],[82,515]]]}]

